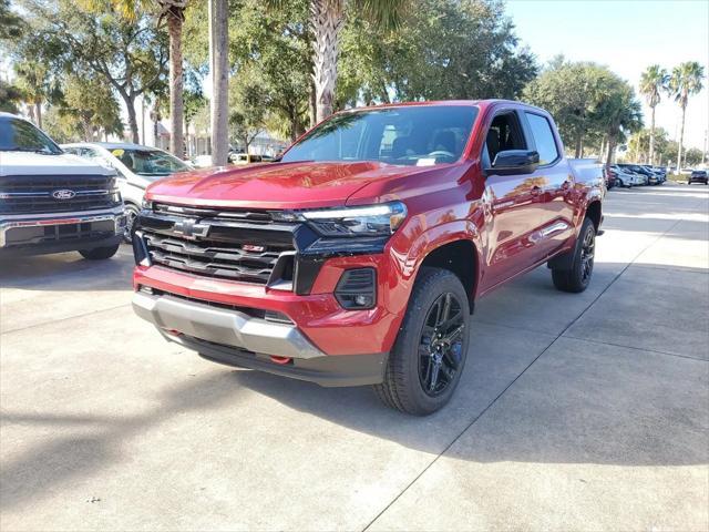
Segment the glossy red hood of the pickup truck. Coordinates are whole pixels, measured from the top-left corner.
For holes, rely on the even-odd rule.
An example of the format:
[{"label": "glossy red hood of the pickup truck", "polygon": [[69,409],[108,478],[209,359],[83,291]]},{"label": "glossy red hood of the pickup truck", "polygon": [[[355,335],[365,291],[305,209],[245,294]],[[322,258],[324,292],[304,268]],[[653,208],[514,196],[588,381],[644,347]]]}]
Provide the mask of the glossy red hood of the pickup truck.
[{"label": "glossy red hood of the pickup truck", "polygon": [[249,208],[307,208],[343,205],[374,181],[431,170],[379,162],[265,163],[178,174],[147,187],[152,201]]}]

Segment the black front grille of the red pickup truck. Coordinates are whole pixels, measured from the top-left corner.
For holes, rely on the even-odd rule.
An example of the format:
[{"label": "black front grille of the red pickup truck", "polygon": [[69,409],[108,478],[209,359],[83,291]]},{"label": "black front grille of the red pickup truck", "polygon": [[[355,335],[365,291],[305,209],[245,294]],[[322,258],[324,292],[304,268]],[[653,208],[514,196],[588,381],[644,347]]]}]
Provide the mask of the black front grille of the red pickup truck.
[{"label": "black front grille of the red pickup truck", "polygon": [[292,288],[295,226],[266,222],[267,213],[258,222],[218,214],[196,208],[142,212],[138,235],[151,263],[204,277]]}]

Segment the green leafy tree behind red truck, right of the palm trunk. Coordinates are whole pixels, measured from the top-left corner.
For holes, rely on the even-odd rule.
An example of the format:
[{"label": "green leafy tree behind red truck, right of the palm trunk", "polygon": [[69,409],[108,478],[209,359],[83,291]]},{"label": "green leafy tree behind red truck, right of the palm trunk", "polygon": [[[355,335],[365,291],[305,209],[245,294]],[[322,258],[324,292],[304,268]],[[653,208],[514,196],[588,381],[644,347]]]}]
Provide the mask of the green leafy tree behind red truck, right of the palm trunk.
[{"label": "green leafy tree behind red truck, right of the palm trunk", "polygon": [[338,106],[393,100],[515,99],[537,72],[495,1],[410,0],[397,30],[350,10]]}]

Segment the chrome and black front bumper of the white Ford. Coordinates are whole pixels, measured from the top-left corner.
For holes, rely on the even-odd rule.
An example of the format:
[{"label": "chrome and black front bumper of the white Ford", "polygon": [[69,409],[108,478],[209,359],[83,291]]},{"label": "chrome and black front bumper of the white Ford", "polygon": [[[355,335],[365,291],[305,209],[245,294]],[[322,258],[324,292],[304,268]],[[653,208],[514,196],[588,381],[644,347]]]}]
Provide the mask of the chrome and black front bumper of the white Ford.
[{"label": "chrome and black front bumper of the white Ford", "polygon": [[123,206],[99,212],[0,217],[0,254],[40,255],[107,247],[121,242]]}]

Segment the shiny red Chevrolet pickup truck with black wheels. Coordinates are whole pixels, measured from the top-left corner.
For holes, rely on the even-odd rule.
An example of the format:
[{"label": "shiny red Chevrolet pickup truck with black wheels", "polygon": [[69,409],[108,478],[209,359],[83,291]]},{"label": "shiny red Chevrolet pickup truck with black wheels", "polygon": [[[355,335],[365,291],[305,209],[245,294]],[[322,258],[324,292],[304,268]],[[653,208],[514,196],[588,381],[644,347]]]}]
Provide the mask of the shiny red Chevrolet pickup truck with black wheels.
[{"label": "shiny red Chevrolet pickup truck with black wheels", "polygon": [[590,280],[603,171],[518,102],[335,114],[275,164],[158,181],[134,243],[135,311],[229,366],[448,402],[475,300],[547,263]]}]

